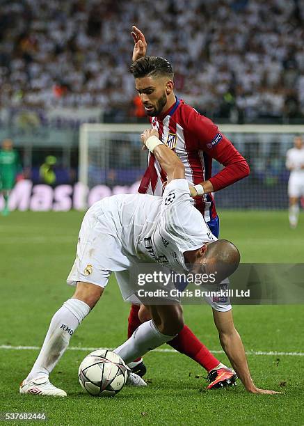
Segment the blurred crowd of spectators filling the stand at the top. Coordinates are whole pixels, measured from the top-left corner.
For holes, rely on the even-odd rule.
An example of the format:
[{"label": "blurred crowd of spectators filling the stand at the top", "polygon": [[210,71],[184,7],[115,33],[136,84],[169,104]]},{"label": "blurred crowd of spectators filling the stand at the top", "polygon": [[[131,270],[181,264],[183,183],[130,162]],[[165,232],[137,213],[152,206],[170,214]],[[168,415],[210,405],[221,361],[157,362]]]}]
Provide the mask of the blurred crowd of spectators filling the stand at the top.
[{"label": "blurred crowd of spectators filling the stand at the top", "polygon": [[303,118],[304,0],[2,0],[0,107],[130,116],[131,24],[210,118]]}]

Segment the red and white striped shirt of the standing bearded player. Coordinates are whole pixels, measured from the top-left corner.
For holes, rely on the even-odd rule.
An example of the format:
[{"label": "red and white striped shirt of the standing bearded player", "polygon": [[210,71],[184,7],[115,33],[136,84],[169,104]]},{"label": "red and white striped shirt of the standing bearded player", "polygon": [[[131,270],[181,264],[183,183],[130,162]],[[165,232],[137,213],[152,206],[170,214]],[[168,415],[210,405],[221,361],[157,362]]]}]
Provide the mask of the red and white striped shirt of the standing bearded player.
[{"label": "red and white striped shirt of the standing bearded player", "polygon": [[[234,148],[218,127],[209,118],[201,116],[198,111],[176,100],[173,107],[150,118],[151,125],[159,132],[159,139],[174,150],[185,167],[186,180],[193,184],[209,180],[214,191],[245,178],[249,174],[246,159]],[[211,177],[212,159],[223,164],[224,168]],[[143,175],[138,192],[161,196],[162,184],[166,173],[161,169],[154,155],[149,153],[148,167]],[[193,200],[195,207],[209,222],[216,217],[213,194]]]}]

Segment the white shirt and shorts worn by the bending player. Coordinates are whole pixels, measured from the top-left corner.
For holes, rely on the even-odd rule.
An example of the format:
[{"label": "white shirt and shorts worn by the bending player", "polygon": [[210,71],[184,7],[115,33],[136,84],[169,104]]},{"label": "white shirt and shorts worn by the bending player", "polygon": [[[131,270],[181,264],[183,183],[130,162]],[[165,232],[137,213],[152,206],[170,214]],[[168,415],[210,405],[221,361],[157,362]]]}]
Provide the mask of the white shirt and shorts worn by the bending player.
[{"label": "white shirt and shorts worn by the bending player", "polygon": [[[163,197],[120,194],[95,203],[83,218],[77,256],[67,283],[106,287],[111,272],[125,300],[138,286],[129,269],[138,262],[158,262],[186,272],[184,252],[216,241],[202,214],[193,206],[185,179],[171,181]],[[216,310],[230,310],[230,301],[206,299]]]}]

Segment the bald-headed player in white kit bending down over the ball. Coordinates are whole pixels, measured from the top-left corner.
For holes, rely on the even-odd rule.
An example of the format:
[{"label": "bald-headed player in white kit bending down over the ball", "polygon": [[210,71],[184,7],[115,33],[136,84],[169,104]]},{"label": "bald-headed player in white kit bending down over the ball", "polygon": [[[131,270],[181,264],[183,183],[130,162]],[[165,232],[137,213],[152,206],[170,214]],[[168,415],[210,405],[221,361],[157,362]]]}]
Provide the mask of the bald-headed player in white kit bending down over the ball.
[{"label": "bald-headed player in white kit bending down over the ball", "polygon": [[[134,280],[129,280],[129,269],[143,260],[184,272],[189,271],[191,265],[191,269],[203,268],[208,274],[218,269],[221,262],[225,265],[225,276],[239,265],[237,248],[226,240],[216,240],[193,206],[191,191],[195,189],[189,189],[182,161],[159,141],[155,129],[146,130],[141,138],[168,175],[163,197],[121,194],[104,198],[90,207],[79,232],[77,257],[67,278],[67,283],[77,285],[76,292],[51,319],[40,354],[22,382],[20,393],[66,395],[64,390],[51,384],[49,374],[67,349],[77,326],[101,297],[111,272],[115,272],[122,297],[127,300],[138,292]],[[220,274],[219,280],[225,276]],[[176,297],[172,300],[178,302]],[[168,303],[168,299],[163,301]],[[141,324],[131,338],[114,351],[126,363],[172,340],[184,326],[179,303],[147,308],[152,319]],[[239,372],[250,377],[246,360],[235,361]],[[143,379],[132,372],[129,372],[129,381],[135,386],[145,385]]]}]

